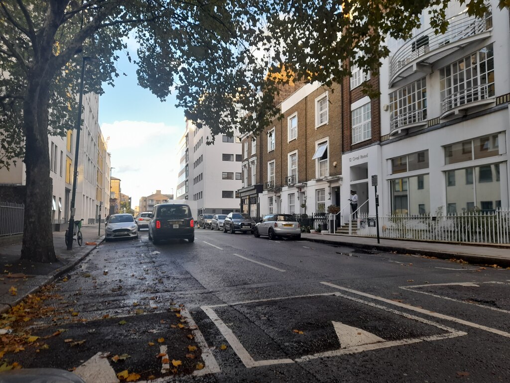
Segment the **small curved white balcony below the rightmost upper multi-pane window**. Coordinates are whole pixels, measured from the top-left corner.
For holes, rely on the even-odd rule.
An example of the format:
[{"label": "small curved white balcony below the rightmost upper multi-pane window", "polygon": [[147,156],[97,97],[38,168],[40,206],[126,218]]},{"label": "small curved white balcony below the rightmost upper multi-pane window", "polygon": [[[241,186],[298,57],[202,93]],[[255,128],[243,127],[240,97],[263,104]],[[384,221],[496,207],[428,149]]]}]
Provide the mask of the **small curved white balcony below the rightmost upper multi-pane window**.
[{"label": "small curved white balcony below the rightmost upper multi-pane window", "polygon": [[494,102],[494,83],[481,84],[450,94],[441,101],[441,118]]}]

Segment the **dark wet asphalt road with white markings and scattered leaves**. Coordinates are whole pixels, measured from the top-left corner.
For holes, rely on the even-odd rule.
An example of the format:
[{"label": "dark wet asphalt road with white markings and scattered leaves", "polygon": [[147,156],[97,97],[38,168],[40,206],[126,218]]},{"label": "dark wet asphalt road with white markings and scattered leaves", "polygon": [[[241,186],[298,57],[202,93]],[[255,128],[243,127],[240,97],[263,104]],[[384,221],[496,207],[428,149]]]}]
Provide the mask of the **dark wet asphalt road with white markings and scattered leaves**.
[{"label": "dark wet asphalt road with white markings and scattered leaves", "polygon": [[102,244],[45,292],[28,329],[49,347],[11,361],[89,361],[90,372],[101,352],[115,374],[160,381],[510,381],[508,270],[200,229],[193,244],[140,234]]}]

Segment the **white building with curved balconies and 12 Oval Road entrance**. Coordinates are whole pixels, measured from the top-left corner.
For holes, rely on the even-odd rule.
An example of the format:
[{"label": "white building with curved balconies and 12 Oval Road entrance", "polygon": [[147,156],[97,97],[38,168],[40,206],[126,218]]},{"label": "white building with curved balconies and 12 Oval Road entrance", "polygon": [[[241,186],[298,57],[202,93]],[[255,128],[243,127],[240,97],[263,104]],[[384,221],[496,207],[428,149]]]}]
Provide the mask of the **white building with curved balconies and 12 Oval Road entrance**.
[{"label": "white building with curved balconies and 12 Oval Road entrance", "polygon": [[490,4],[475,18],[451,3],[439,35],[425,11],[411,39],[388,41],[380,143],[343,154],[343,200],[362,186],[375,213],[376,175],[382,214],[508,208],[509,13]]}]

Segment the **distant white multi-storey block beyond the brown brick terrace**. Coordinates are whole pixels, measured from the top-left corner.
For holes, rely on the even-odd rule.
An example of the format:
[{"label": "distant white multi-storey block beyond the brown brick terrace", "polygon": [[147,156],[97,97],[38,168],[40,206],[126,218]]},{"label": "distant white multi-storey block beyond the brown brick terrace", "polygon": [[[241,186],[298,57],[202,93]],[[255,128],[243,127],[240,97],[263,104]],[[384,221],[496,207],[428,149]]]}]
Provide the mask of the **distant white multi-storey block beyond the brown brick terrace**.
[{"label": "distant white multi-storey block beyond the brown brick terrace", "polygon": [[176,198],[195,201],[197,216],[240,211],[236,190],[242,183],[241,141],[234,133],[218,135],[214,145],[207,145],[211,136],[208,127],[197,129],[187,121],[181,139]]}]

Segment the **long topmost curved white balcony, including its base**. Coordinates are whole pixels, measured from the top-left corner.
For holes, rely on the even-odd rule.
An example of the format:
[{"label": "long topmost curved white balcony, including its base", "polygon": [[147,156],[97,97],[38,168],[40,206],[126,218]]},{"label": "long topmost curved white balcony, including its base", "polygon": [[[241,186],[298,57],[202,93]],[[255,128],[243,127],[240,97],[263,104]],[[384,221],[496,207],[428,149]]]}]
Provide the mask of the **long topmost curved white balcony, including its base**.
[{"label": "long topmost curved white balcony, including its base", "polygon": [[486,39],[492,33],[492,13],[482,18],[467,12],[448,20],[448,30],[436,35],[429,28],[407,40],[390,59],[390,86],[416,71],[430,73],[431,64],[462,49],[466,45]]}]

